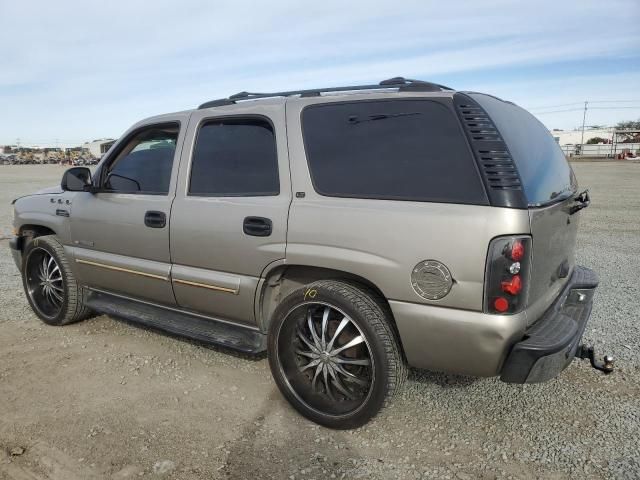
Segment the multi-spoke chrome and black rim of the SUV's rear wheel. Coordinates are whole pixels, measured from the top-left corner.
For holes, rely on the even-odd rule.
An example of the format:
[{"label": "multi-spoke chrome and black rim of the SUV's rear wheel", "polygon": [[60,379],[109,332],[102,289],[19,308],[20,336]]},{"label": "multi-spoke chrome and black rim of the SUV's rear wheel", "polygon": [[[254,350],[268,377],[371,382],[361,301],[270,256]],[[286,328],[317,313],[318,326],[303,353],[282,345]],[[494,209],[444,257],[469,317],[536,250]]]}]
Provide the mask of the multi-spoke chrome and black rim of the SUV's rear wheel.
[{"label": "multi-spoke chrome and black rim of the SUV's rear wheel", "polygon": [[358,325],[331,305],[304,303],[289,312],[278,335],[278,357],[292,392],[320,413],[353,413],[371,393],[369,343]]}]

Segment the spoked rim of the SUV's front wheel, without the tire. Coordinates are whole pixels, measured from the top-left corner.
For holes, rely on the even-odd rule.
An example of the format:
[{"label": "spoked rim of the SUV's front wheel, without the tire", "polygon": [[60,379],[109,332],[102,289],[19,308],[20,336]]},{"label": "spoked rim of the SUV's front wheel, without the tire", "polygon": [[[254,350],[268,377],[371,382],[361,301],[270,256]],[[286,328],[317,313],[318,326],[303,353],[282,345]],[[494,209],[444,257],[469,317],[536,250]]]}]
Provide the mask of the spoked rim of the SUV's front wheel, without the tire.
[{"label": "spoked rim of the SUV's front wheel, without the tire", "polygon": [[26,264],[27,294],[38,312],[48,318],[58,316],[64,305],[64,281],[55,258],[43,248],[34,248]]}]

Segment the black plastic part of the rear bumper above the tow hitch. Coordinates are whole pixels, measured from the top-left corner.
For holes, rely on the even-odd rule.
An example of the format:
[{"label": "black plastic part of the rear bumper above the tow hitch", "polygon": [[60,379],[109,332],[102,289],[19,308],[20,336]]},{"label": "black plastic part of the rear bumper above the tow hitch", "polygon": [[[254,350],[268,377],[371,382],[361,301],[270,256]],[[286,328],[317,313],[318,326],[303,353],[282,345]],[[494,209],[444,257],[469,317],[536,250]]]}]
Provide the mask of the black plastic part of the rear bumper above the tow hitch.
[{"label": "black plastic part of the rear bumper above the tow hitch", "polygon": [[504,362],[500,379],[508,383],[550,380],[573,360],[587,326],[597,275],[576,267],[556,301],[516,343]]}]

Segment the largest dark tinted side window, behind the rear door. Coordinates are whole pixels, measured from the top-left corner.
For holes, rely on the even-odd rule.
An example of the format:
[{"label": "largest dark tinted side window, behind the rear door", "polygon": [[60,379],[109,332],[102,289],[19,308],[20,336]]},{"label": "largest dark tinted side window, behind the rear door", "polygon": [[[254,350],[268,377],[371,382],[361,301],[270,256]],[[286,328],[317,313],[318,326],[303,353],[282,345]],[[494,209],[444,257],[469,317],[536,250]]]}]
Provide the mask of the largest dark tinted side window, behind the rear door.
[{"label": "largest dark tinted side window, behind the rear door", "polygon": [[307,107],[305,148],[329,196],[487,204],[458,120],[431,100]]}]

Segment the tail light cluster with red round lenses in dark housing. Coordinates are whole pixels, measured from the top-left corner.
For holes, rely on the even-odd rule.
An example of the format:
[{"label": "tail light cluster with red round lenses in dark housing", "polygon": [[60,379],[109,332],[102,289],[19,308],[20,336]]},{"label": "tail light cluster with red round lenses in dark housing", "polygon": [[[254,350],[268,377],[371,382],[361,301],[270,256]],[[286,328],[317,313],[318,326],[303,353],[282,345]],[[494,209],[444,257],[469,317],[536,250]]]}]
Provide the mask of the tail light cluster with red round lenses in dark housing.
[{"label": "tail light cluster with red round lenses in dark housing", "polygon": [[527,303],[531,237],[494,238],[489,244],[484,310],[512,314]]}]

